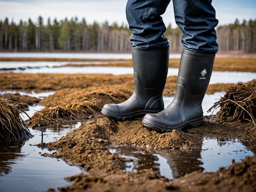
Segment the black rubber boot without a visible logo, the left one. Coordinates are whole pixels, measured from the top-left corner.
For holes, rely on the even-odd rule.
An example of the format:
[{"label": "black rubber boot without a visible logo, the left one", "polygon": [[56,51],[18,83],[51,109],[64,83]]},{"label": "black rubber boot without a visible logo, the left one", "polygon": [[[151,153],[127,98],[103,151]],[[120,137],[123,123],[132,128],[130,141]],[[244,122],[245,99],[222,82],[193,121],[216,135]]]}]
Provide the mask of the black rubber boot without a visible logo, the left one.
[{"label": "black rubber boot without a visible logo, the left one", "polygon": [[101,113],[121,120],[142,118],[147,113],[164,110],[164,90],[169,64],[169,47],[132,48],[134,70],[133,95],[123,103],[106,104]]}]

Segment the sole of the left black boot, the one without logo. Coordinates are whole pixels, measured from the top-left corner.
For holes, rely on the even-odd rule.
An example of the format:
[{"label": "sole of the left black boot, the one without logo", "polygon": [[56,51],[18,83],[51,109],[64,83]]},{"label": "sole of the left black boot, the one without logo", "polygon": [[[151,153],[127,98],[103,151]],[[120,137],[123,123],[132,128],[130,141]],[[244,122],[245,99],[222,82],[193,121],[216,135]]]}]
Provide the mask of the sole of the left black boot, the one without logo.
[{"label": "sole of the left black boot, the one without logo", "polygon": [[102,109],[101,113],[111,119],[122,120],[122,121],[124,121],[124,120],[131,121],[134,119],[140,119],[140,118],[144,117],[147,113],[158,113],[161,111],[162,110],[159,110],[159,111],[142,110],[142,111],[135,111],[132,113],[119,114],[119,113],[112,113],[110,111]]}]

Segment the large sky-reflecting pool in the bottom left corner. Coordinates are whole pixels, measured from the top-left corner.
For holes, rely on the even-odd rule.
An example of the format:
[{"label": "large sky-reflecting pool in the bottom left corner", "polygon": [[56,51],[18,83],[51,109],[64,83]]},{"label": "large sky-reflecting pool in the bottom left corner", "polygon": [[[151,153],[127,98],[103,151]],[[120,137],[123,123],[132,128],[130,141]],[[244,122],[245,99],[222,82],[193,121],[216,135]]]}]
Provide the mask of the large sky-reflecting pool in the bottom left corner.
[{"label": "large sky-reflecting pool in the bottom left corner", "polygon": [[[73,122],[76,123],[76,122]],[[62,159],[43,157],[47,149],[38,148],[43,142],[53,142],[80,126],[80,122],[57,128],[30,129],[33,138],[25,143],[0,148],[0,191],[47,191],[70,185],[64,177],[85,172],[79,166]],[[52,153],[53,151],[51,151]]]}]

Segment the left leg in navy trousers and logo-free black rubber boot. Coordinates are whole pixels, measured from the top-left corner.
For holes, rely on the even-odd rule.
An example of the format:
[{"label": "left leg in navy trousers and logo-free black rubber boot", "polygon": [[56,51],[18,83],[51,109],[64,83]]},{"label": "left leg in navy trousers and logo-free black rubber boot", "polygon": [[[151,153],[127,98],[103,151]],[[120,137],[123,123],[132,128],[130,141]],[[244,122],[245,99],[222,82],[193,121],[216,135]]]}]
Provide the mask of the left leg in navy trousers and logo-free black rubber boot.
[{"label": "left leg in navy trousers and logo-free black rubber boot", "polygon": [[169,64],[169,42],[161,14],[170,0],[128,0],[127,21],[132,30],[134,93],[127,101],[106,104],[101,113],[114,119],[132,120],[164,110],[162,91]]}]

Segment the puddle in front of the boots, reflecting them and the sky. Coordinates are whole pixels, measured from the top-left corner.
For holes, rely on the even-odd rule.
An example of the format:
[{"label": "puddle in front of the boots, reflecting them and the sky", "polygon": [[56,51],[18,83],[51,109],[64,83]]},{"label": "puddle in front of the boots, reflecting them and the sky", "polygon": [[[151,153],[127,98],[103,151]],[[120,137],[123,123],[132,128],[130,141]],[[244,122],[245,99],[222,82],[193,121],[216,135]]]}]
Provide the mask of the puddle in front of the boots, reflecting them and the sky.
[{"label": "puddle in front of the boots, reflecting them and the sky", "polygon": [[232,159],[241,162],[246,156],[253,156],[244,144],[238,139],[218,142],[217,139],[204,138],[202,150],[194,149],[191,153],[150,153],[133,147],[109,150],[132,160],[126,163],[128,172],[152,168],[161,176],[174,179],[197,170],[217,171],[220,167],[229,167]]}]

